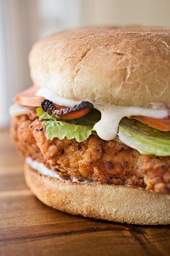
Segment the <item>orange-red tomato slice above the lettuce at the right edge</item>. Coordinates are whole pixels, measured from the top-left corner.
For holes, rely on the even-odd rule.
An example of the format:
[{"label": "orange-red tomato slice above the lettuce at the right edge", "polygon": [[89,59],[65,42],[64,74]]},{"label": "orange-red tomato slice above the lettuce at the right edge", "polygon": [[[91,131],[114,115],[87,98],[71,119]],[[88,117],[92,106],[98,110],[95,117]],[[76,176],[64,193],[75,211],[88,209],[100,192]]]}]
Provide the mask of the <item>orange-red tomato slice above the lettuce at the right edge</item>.
[{"label": "orange-red tomato slice above the lettuce at the right edge", "polygon": [[163,132],[170,131],[170,116],[164,119],[156,119],[148,116],[133,116],[133,119],[141,121],[143,124],[148,124],[149,127],[156,128]]}]

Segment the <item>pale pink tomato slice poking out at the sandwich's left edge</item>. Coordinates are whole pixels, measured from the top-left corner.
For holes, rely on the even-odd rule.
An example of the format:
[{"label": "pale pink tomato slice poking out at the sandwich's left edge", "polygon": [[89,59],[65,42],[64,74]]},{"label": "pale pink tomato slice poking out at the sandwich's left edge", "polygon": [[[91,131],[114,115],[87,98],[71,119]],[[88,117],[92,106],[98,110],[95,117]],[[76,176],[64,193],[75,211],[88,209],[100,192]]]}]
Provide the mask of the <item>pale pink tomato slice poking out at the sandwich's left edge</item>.
[{"label": "pale pink tomato slice poking out at the sandwich's left edge", "polygon": [[39,89],[40,86],[34,85],[27,90],[24,90],[22,93],[17,94],[15,101],[22,106],[40,106],[44,98],[35,96],[35,93],[37,93],[37,90]]}]

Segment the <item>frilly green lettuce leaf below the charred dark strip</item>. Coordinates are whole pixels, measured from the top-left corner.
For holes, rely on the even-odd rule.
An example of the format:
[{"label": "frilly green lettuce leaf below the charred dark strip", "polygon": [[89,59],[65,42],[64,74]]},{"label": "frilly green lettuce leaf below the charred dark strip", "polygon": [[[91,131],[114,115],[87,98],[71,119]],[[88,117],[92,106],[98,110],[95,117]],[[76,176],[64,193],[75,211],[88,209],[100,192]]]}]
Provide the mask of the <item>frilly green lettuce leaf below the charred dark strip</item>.
[{"label": "frilly green lettuce leaf below the charred dark strip", "polygon": [[46,127],[48,140],[53,140],[55,137],[63,140],[64,137],[67,137],[68,140],[75,139],[77,142],[83,142],[93,132],[93,125],[73,124],[73,120],[71,120],[72,123],[58,120],[48,112],[43,111],[41,107],[37,108],[37,115],[40,119],[45,120],[43,123]]}]

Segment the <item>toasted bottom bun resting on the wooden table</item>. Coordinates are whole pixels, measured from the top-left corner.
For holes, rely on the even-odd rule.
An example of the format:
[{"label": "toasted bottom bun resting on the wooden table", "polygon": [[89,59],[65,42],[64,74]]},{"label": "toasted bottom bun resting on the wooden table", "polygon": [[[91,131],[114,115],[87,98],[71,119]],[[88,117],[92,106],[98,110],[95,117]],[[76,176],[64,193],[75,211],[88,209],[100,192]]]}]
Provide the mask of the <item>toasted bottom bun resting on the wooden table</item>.
[{"label": "toasted bottom bun resting on the wooden table", "polygon": [[27,163],[24,171],[27,185],[34,195],[63,212],[121,223],[170,223],[169,195],[127,186],[61,180],[40,174]]}]

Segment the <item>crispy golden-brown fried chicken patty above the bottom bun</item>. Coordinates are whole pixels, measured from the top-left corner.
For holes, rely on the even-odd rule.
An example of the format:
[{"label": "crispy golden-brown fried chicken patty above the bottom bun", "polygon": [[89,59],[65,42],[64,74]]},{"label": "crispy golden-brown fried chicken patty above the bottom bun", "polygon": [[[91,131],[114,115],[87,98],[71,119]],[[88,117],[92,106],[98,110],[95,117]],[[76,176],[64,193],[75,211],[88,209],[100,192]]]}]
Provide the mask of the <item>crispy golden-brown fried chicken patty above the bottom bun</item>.
[{"label": "crispy golden-brown fried chicken patty above the bottom bun", "polygon": [[117,140],[104,141],[91,135],[84,142],[48,140],[45,125],[34,111],[15,116],[12,137],[24,158],[44,163],[64,179],[70,176],[108,184],[143,187],[170,193],[170,157],[140,155]]}]

